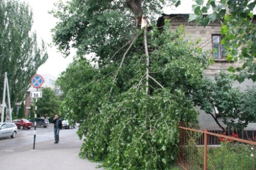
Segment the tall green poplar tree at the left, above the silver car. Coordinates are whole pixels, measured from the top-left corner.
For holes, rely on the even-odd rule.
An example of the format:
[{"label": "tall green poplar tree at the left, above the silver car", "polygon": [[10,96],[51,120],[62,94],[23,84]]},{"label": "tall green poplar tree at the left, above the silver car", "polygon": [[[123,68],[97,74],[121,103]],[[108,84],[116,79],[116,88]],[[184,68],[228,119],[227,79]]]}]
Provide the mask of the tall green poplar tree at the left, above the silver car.
[{"label": "tall green poplar tree at the left, above the silver car", "polygon": [[33,13],[24,1],[0,1],[0,100],[7,72],[11,105],[24,100],[30,79],[48,55],[31,32]]}]

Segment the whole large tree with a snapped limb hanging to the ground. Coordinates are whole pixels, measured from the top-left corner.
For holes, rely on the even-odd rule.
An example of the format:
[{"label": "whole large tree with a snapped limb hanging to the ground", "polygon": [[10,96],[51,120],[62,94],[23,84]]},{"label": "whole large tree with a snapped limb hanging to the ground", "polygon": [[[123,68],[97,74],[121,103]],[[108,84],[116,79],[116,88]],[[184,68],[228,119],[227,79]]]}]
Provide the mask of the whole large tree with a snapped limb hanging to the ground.
[{"label": "whole large tree with a snapped limb hanging to the ground", "polygon": [[[184,28],[159,33],[153,17],[165,2],[75,0],[53,11],[60,19],[54,42],[65,55],[77,48],[58,81],[63,110],[82,119],[80,156],[112,169],[168,169],[179,121],[197,121],[190,94],[211,59]],[[94,54],[95,67],[86,53]]]}]

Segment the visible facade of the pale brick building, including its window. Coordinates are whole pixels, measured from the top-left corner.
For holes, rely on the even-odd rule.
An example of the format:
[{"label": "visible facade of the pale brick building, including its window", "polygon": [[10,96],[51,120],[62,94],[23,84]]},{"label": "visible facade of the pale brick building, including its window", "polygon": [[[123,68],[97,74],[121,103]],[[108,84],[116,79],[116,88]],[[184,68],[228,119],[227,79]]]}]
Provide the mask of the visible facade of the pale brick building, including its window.
[{"label": "visible facade of the pale brick building, including its window", "polygon": [[[203,27],[198,26],[195,22],[188,22],[189,14],[162,14],[158,19],[158,28],[163,29],[164,20],[170,20],[170,31],[176,30],[179,26],[184,25],[186,35],[190,37],[191,41],[196,42],[199,38],[201,39],[198,46],[202,47],[203,50],[212,50],[213,58],[215,63],[210,65],[210,67],[204,71],[205,76],[214,79],[214,76],[220,72],[220,70],[228,70],[230,66],[232,67],[241,67],[242,62],[228,62],[225,56],[225,49],[223,48],[220,41],[223,36],[220,34],[221,22],[216,21],[212,22],[209,25]],[[214,50],[215,49],[215,50]],[[246,79],[243,83],[234,82],[234,87],[239,87],[240,90],[245,90],[248,86],[256,85],[251,79]],[[199,124],[202,129],[205,127],[213,127],[214,129],[217,126],[211,115],[205,114],[202,110],[199,109]],[[219,119],[219,122],[222,123],[222,120]],[[222,123],[222,125],[224,125]],[[248,129],[256,129],[255,123],[250,123]]]}]

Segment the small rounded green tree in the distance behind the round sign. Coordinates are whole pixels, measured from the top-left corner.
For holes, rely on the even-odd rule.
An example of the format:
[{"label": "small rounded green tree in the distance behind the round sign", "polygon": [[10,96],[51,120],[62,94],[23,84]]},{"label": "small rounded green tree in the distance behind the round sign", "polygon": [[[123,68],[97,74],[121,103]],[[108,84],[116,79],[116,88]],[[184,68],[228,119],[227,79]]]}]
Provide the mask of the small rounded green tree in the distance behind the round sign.
[{"label": "small rounded green tree in the distance behind the round sign", "polygon": [[37,100],[37,114],[40,117],[54,117],[59,114],[60,100],[51,88],[42,89],[43,97]]}]

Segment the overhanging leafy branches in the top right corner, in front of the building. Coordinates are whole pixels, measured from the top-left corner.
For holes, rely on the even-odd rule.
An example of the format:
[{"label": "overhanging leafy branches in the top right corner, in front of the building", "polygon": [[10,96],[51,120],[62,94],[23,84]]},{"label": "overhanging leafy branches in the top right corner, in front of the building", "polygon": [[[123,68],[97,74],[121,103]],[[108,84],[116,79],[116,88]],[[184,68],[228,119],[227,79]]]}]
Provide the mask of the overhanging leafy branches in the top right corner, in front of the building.
[{"label": "overhanging leafy branches in the top right corner, in front of the building", "polygon": [[196,20],[203,26],[214,20],[223,20],[221,33],[225,38],[222,44],[228,50],[227,59],[244,62],[242,67],[229,67],[232,73],[240,73],[233,74],[232,77],[239,82],[245,79],[252,79],[255,82],[256,29],[253,11],[256,1],[208,0],[206,4],[203,0],[196,2],[197,5],[193,5],[194,14],[190,15],[189,20]]}]

